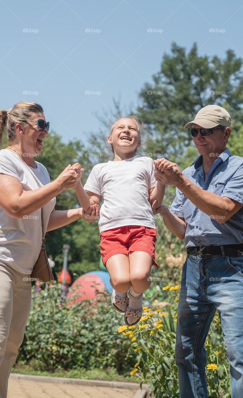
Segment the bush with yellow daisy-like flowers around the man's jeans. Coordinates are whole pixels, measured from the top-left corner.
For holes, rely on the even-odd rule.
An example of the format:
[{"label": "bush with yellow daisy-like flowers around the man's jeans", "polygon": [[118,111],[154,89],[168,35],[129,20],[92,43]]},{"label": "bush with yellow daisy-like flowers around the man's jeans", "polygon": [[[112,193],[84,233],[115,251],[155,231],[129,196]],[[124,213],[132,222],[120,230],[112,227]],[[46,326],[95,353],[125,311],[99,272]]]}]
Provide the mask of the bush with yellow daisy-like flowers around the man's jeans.
[{"label": "bush with yellow daisy-like flowers around the man's jeans", "polygon": [[[179,398],[177,366],[175,365],[175,330],[179,284],[167,285],[170,306],[165,310],[144,307],[143,316],[135,326],[118,328],[136,353],[130,375],[136,374],[141,384],[150,385],[149,394],[159,398]],[[154,302],[153,305],[156,305]],[[152,307],[153,307],[152,305]],[[230,397],[229,364],[226,359],[219,317],[215,316],[205,345],[208,364],[206,377],[209,397]]]}]

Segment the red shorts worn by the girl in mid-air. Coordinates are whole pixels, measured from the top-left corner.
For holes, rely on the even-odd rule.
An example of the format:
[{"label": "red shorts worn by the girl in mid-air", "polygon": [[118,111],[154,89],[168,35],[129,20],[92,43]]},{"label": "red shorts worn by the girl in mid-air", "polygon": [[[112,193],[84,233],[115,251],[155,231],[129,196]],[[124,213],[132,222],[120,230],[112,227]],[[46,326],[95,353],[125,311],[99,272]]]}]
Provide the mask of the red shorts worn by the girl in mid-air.
[{"label": "red shorts worn by the girl in mid-air", "polygon": [[102,261],[106,261],[115,254],[129,254],[132,252],[146,252],[155,261],[156,229],[140,225],[126,225],[112,228],[100,234]]}]

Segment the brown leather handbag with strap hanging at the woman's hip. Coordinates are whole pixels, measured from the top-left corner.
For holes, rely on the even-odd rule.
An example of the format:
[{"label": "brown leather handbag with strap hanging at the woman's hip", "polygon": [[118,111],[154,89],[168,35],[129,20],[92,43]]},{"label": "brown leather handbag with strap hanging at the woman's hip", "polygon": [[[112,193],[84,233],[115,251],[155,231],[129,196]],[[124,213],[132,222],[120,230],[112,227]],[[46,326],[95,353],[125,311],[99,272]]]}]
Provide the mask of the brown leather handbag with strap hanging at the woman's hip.
[{"label": "brown leather handbag with strap hanging at the woman's hip", "polygon": [[33,267],[31,278],[41,282],[54,281],[51,267],[47,258],[47,251],[45,246],[45,232],[43,226],[43,208],[41,207],[41,228],[42,228],[42,245],[39,257]]}]

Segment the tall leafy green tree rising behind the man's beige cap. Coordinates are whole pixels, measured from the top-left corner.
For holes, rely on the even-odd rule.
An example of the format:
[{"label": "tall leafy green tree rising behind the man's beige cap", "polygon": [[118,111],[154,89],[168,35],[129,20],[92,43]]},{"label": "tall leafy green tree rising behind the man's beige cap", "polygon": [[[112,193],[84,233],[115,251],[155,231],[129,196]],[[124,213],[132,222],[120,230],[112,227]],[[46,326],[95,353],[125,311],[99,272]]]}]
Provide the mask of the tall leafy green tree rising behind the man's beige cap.
[{"label": "tall leafy green tree rising behind the man's beige cap", "polygon": [[[192,144],[184,125],[200,108],[217,104],[235,122],[242,120],[243,74],[242,59],[231,50],[220,59],[198,56],[196,44],[188,54],[176,43],[171,47],[171,54],[163,56],[161,69],[152,76],[152,85],[146,83],[141,90],[143,104],[138,113],[148,128],[149,152],[178,162]],[[235,123],[235,133],[238,127]]]}]

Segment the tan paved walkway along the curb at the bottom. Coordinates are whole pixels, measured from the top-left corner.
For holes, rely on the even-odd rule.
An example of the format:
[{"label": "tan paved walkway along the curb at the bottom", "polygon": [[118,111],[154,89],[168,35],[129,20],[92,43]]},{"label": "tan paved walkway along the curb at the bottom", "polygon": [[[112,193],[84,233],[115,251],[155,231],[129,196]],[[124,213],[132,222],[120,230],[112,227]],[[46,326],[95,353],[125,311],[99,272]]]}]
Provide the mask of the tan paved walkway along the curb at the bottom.
[{"label": "tan paved walkway along the curb at the bottom", "polygon": [[136,390],[9,379],[7,398],[133,398]]}]

